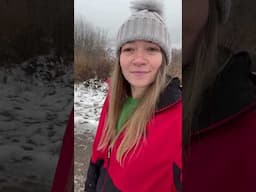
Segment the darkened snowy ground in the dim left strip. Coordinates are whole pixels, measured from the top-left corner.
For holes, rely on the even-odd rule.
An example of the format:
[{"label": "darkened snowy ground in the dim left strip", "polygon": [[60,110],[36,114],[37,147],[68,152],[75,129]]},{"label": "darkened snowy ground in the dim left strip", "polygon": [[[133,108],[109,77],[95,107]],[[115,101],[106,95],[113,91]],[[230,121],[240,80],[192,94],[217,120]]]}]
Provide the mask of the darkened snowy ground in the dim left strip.
[{"label": "darkened snowy ground in the dim left strip", "polygon": [[40,56],[0,70],[0,191],[50,191],[73,107],[63,62]]}]

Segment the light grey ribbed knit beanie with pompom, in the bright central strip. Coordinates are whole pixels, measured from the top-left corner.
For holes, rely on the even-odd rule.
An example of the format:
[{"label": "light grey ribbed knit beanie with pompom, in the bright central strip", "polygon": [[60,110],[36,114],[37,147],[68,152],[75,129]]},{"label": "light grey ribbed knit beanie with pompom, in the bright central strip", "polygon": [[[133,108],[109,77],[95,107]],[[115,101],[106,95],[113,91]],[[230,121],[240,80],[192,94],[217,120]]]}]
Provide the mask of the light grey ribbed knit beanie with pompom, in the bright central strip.
[{"label": "light grey ribbed knit beanie with pompom, in the bright central strip", "polygon": [[136,0],[131,4],[134,12],[118,31],[117,52],[129,41],[151,41],[162,48],[167,64],[169,64],[171,62],[171,41],[163,20],[163,5],[157,0]]}]

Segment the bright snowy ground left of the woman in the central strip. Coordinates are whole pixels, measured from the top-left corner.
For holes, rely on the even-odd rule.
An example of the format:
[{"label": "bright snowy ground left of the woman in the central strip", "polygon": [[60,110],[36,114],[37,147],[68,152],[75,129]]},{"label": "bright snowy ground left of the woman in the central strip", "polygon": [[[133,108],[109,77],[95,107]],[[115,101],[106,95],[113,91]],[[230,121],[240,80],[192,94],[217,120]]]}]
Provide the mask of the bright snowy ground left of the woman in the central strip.
[{"label": "bright snowy ground left of the woman in the central strip", "polygon": [[91,145],[107,93],[107,84],[95,80],[74,86],[75,106],[75,192],[83,192],[91,156]]}]

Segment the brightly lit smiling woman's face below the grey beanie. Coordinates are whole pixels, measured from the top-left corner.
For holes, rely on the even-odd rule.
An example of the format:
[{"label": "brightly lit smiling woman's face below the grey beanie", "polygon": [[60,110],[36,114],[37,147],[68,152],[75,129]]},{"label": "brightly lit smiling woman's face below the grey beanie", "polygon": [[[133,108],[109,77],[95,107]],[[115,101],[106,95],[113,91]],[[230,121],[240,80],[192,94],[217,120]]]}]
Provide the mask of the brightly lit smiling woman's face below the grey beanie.
[{"label": "brightly lit smiling woman's face below the grey beanie", "polygon": [[134,98],[139,98],[155,80],[161,64],[161,48],[155,43],[132,41],[122,46],[120,66]]}]

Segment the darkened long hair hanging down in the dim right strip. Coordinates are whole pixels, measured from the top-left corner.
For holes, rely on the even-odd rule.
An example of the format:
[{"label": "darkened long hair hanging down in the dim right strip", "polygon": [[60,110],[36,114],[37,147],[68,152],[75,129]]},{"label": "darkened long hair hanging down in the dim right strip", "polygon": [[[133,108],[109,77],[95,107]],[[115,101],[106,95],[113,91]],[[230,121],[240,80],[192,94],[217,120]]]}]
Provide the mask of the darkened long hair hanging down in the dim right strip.
[{"label": "darkened long hair hanging down in the dim right strip", "polygon": [[218,75],[218,17],[216,0],[209,0],[208,21],[194,61],[189,70],[183,71],[183,152],[188,151],[192,129],[197,128],[203,93],[213,84]]}]

